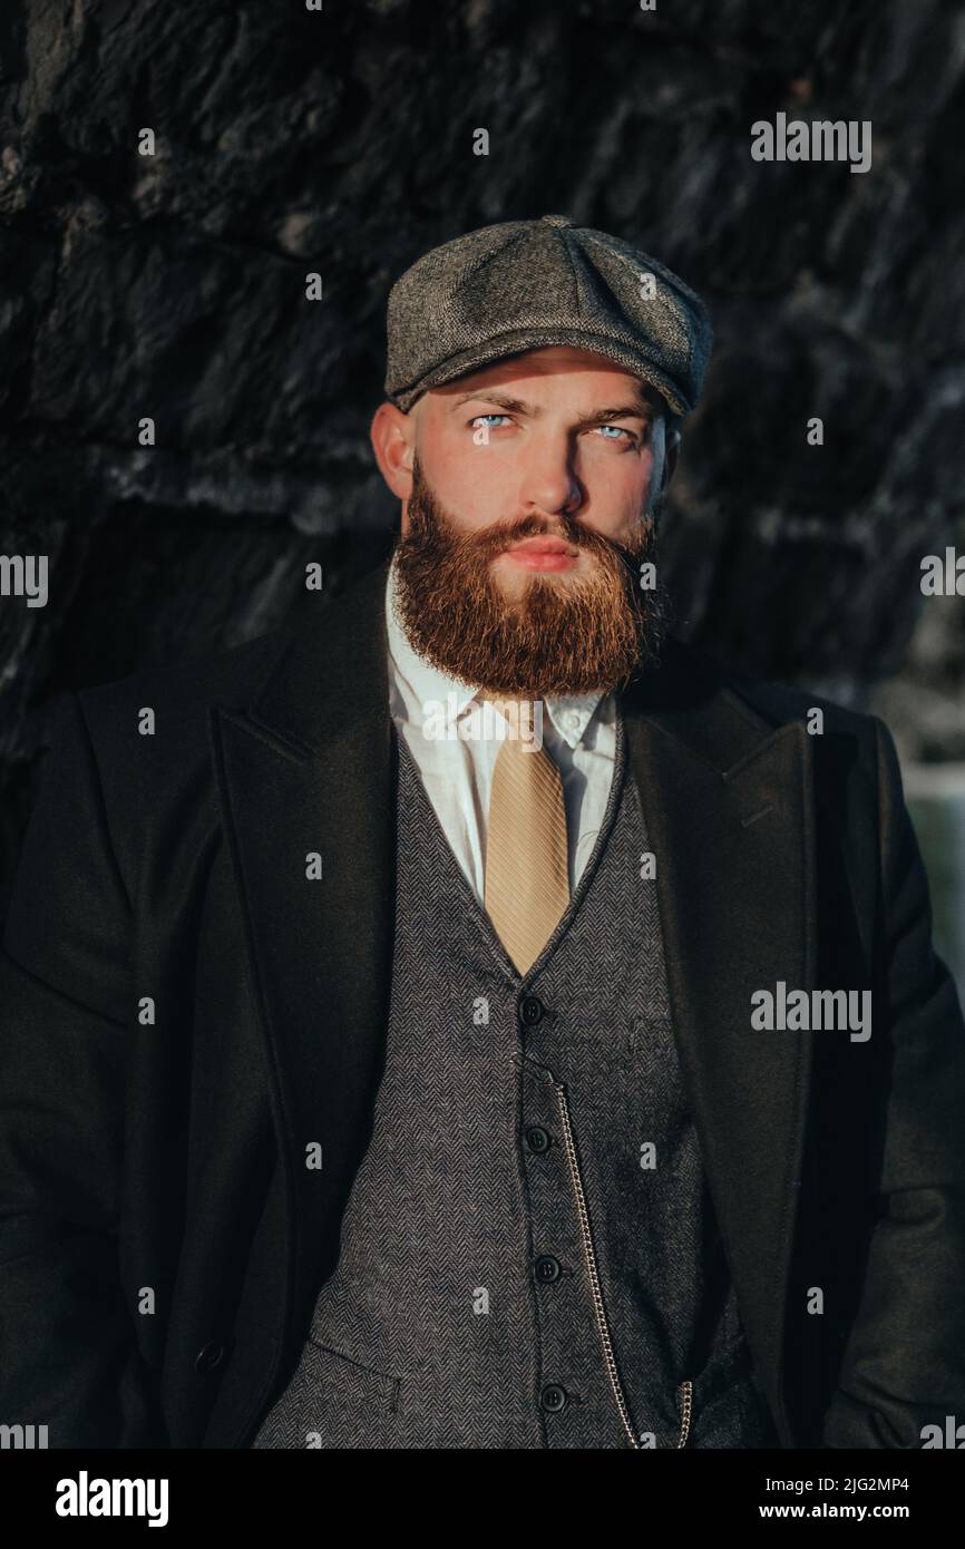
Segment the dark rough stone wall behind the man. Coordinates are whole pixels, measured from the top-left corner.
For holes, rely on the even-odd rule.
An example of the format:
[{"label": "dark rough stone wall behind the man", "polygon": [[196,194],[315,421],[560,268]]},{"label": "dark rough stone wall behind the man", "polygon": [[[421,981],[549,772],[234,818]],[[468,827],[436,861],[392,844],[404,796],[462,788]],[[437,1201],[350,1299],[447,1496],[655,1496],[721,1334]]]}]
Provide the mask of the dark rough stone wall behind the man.
[{"label": "dark rough stone wall behind the man", "polygon": [[[872,169],[754,163],[779,110],[871,119]],[[965,551],[963,143],[953,0],[5,0],[0,553],[46,553],[50,601],[0,598],[0,875],[57,692],[386,550],[387,290],[553,211],[714,316],[665,522],[680,634],[855,705],[901,674],[903,748],[965,757],[963,604],[919,587]]]}]

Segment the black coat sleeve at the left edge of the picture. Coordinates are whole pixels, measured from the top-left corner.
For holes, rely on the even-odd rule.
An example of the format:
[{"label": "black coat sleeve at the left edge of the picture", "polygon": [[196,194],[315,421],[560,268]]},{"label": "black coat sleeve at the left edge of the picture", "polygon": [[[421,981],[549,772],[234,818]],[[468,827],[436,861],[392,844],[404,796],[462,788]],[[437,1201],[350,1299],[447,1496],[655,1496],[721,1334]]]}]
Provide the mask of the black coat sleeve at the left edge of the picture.
[{"label": "black coat sleeve at the left edge of the picture", "polygon": [[71,694],[0,951],[0,1420],[50,1447],[169,1445],[118,1272],[130,940]]}]

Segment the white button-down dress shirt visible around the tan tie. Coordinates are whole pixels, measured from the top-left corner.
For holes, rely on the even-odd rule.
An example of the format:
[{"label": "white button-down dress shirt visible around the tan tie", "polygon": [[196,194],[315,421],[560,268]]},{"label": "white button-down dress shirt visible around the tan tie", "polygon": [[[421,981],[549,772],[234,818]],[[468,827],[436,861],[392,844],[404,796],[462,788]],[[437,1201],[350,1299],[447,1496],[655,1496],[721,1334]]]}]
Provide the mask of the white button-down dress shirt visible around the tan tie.
[{"label": "white button-down dress shirt visible around the tan tie", "polygon": [[[493,767],[502,737],[458,734],[466,717],[479,720],[479,691],[440,672],[410,644],[395,613],[395,561],[386,586],[389,632],[389,709],[421,774],[426,795],[476,897],[483,903],[486,819]],[[449,696],[454,696],[452,700]],[[570,894],[593,850],[613,779],[616,754],[615,694],[578,694],[544,700],[542,742],[562,776],[567,813]],[[455,736],[438,736],[440,709],[454,709]],[[493,725],[505,725],[494,705]],[[429,723],[428,731],[423,730]],[[525,730],[525,722],[522,723]],[[531,725],[531,722],[530,722]],[[465,728],[463,728],[465,731]],[[434,734],[428,734],[434,733]]]}]

